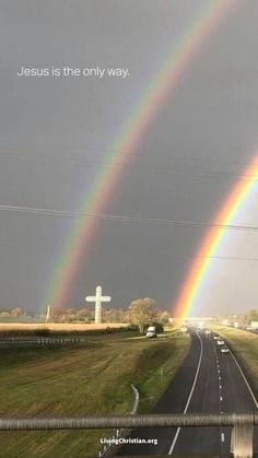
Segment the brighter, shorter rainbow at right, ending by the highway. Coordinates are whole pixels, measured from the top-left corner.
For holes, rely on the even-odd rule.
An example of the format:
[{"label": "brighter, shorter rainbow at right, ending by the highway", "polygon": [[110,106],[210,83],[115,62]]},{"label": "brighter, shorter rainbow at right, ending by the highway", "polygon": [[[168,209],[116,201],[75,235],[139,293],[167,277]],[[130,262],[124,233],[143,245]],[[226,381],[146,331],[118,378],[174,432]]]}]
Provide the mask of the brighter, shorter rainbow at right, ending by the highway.
[{"label": "brighter, shorter rainbow at right, ending by the highway", "polygon": [[[257,158],[258,160],[258,158]],[[245,179],[241,179],[230,192],[214,221],[202,240],[197,256],[189,269],[179,293],[174,315],[186,319],[192,309],[197,296],[204,283],[212,257],[218,251],[226,233],[226,227],[239,212],[242,205],[254,190],[258,179],[258,162],[253,161],[244,172]]]}]

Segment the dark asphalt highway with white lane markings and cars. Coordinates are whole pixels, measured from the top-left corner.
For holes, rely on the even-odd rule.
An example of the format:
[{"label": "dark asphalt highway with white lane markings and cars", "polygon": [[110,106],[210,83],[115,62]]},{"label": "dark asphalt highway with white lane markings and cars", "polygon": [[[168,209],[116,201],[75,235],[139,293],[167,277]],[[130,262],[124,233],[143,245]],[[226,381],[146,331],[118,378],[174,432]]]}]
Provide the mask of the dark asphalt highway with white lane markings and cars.
[{"label": "dark asphalt highway with white lane markings and cars", "polygon": [[[211,336],[191,332],[191,348],[153,413],[254,411],[254,399],[231,353],[221,353]],[[117,456],[230,456],[230,427],[139,428]],[[255,451],[258,451],[257,431]]]}]

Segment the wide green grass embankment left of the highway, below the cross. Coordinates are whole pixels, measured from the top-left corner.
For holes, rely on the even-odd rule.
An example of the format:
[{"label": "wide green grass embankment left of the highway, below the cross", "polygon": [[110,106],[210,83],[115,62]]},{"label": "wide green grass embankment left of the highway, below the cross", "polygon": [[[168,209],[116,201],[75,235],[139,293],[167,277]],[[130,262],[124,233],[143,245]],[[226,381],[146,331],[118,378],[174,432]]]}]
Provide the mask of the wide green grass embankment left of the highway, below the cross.
[{"label": "wide green grass embankment left of the highway, below the cross", "polygon": [[[173,378],[189,338],[146,340],[133,332],[86,338],[80,348],[15,348],[1,351],[1,415],[128,413],[140,392],[148,412]],[[1,457],[93,457],[107,431],[8,432]]]}]

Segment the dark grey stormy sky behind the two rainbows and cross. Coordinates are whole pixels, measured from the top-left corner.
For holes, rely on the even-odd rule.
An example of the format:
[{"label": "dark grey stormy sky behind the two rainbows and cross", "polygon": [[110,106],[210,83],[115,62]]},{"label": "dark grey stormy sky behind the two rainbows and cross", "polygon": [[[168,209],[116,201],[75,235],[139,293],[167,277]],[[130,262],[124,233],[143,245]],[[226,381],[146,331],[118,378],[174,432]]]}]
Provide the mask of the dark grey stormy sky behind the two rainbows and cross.
[{"label": "dark grey stormy sky behind the two rainbows and cross", "polygon": [[[104,213],[209,223],[258,151],[258,3],[233,1],[119,174]],[[77,211],[105,152],[207,0],[0,0],[0,205]],[[21,78],[26,68],[125,67],[126,79]],[[257,226],[258,189],[236,216]],[[0,210],[0,307],[42,312],[73,218]],[[66,307],[97,284],[127,307],[173,309],[201,227],[98,221]],[[198,312],[257,308],[258,233],[231,231]],[[224,258],[237,259],[224,259]],[[244,258],[244,259],[243,259]],[[251,258],[251,259],[250,259]],[[46,304],[47,306],[47,304]],[[192,310],[195,312],[195,310]]]}]

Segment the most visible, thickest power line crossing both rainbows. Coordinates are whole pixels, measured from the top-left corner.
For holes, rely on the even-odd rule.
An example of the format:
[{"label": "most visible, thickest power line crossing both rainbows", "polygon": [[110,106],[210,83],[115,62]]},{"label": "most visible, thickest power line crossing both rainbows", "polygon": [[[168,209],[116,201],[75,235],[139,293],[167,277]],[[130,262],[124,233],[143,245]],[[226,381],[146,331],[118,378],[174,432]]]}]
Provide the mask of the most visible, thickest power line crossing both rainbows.
[{"label": "most visible, thickest power line crossing both rainbows", "polygon": [[39,214],[45,216],[69,216],[69,218],[92,218],[96,220],[125,222],[125,223],[142,223],[142,224],[161,224],[161,225],[174,225],[174,226],[186,226],[186,227],[214,227],[216,230],[233,230],[233,231],[250,231],[257,232],[258,226],[249,225],[234,225],[234,224],[210,224],[210,223],[198,223],[195,221],[176,221],[176,220],[161,220],[154,218],[139,218],[139,216],[126,216],[116,214],[104,214],[104,213],[91,213],[91,212],[72,212],[67,210],[54,210],[46,208],[33,208],[33,207],[16,207],[0,204],[0,211],[24,213],[24,214]]}]

